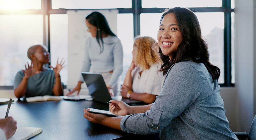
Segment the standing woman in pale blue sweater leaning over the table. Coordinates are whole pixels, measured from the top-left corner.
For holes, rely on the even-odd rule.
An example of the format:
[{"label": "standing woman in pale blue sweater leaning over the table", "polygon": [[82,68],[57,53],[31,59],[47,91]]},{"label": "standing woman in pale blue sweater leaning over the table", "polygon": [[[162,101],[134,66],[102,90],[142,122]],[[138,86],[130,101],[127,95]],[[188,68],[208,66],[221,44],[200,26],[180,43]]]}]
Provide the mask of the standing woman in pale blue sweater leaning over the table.
[{"label": "standing woman in pale blue sweater leaning over the table", "polygon": [[[85,17],[85,23],[92,36],[86,39],[85,54],[81,72],[89,72],[92,66],[93,73],[101,73],[108,87],[109,93],[117,94],[118,77],[123,72],[123,47],[120,39],[110,30],[106,18],[99,12],[92,12]],[[84,82],[80,74],[77,86],[71,90],[80,92]],[[113,96],[113,94],[111,94]]]}]

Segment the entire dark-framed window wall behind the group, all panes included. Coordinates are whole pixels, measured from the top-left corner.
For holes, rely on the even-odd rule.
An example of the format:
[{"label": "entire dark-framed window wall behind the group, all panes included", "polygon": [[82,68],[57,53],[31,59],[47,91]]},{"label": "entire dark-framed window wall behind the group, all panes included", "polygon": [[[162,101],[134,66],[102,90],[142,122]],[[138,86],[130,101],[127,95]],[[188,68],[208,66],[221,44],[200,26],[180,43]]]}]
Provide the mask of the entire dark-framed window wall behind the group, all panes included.
[{"label": "entire dark-framed window wall behind the group, all panes included", "polygon": [[[219,84],[234,86],[234,0],[0,0],[0,88],[12,89],[15,74],[30,61],[27,50],[31,45],[46,45],[52,66],[58,57],[68,59],[68,9],[119,10],[117,36],[124,49],[123,81],[132,61],[133,37],[156,39],[161,12],[177,6],[194,9],[208,43],[210,62],[221,70]],[[66,66],[61,71],[64,84],[67,74]]]}]

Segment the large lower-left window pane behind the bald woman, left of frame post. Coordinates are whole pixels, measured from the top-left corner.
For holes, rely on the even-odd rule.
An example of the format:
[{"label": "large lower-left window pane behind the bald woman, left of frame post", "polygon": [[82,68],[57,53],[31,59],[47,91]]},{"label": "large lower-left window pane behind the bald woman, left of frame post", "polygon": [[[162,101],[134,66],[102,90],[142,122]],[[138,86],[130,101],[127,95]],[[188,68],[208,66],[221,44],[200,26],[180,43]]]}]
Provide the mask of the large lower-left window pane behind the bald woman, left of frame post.
[{"label": "large lower-left window pane behind the bald woman, left of frame post", "polygon": [[0,86],[13,86],[25,64],[28,48],[43,44],[42,15],[0,15]]}]

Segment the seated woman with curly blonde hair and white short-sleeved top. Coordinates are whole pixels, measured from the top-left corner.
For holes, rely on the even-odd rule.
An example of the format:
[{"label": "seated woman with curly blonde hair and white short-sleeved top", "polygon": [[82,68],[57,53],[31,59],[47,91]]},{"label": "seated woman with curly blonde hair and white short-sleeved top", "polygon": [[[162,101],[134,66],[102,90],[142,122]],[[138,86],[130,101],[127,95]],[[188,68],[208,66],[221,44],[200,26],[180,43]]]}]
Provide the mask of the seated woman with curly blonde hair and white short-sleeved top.
[{"label": "seated woman with curly blonde hair and white short-sleeved top", "polygon": [[163,72],[157,71],[161,64],[158,64],[159,56],[152,48],[155,43],[156,40],[148,36],[134,40],[132,64],[121,88],[122,97],[148,104],[155,102],[164,82]]}]

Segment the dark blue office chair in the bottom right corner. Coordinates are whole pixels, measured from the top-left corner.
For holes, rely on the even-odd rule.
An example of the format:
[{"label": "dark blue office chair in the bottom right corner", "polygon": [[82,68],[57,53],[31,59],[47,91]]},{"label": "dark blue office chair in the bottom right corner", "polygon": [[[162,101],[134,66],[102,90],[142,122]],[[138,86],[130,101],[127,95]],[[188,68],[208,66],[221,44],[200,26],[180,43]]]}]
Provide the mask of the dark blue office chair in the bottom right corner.
[{"label": "dark blue office chair in the bottom right corner", "polygon": [[256,140],[256,115],[252,120],[252,125],[248,134],[244,132],[244,133],[235,133],[235,135],[239,140],[245,140],[245,139]]}]

